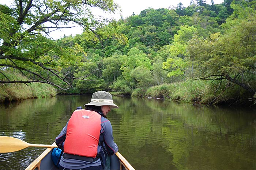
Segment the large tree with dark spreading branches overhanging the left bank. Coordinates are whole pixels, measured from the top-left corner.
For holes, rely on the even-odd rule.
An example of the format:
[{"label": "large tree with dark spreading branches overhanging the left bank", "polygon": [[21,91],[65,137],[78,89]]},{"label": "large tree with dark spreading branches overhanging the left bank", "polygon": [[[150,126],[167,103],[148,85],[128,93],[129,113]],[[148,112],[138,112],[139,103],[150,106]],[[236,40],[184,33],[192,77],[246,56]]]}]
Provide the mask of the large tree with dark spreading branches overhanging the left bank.
[{"label": "large tree with dark spreading branches overhanging the left bank", "polygon": [[[72,28],[68,24],[75,23],[100,39],[101,35],[93,28],[106,24],[108,20],[97,20],[91,12],[92,7],[114,12],[118,6],[112,0],[19,0],[14,1],[10,8],[0,5],[0,40],[3,42],[0,47],[0,67],[4,75],[0,83],[41,82],[62,88],[53,81],[59,79],[71,85],[60,70],[68,67],[73,59],[65,49],[46,36],[56,29]],[[8,68],[19,70],[27,77],[33,75],[34,79],[19,81],[8,78],[3,72]]]}]

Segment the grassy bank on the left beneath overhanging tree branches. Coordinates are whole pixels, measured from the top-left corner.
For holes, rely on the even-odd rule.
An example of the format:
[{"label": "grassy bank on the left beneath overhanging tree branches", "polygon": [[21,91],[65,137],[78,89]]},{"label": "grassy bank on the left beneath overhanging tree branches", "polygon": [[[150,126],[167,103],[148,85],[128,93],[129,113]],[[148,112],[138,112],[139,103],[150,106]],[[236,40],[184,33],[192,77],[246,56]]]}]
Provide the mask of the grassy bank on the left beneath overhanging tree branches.
[{"label": "grassy bank on the left beneath overhanging tree branches", "polygon": [[[9,73],[12,74],[12,73]],[[26,79],[22,75],[12,74],[20,80]],[[30,98],[55,96],[56,90],[50,84],[44,83],[11,83],[0,84],[0,103]]]}]

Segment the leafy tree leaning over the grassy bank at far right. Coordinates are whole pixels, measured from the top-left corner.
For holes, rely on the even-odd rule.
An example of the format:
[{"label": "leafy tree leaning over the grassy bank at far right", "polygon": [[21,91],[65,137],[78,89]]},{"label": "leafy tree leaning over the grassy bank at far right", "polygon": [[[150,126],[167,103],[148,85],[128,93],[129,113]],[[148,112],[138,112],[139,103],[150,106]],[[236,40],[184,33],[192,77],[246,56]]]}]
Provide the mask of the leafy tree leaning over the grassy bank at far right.
[{"label": "leafy tree leaning over the grassy bank at far right", "polygon": [[252,95],[256,92],[256,19],[255,14],[252,15],[236,24],[230,20],[232,27],[228,27],[224,35],[215,33],[210,39],[190,41],[188,51],[198,78],[226,79]]}]

